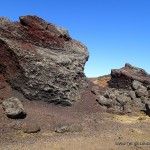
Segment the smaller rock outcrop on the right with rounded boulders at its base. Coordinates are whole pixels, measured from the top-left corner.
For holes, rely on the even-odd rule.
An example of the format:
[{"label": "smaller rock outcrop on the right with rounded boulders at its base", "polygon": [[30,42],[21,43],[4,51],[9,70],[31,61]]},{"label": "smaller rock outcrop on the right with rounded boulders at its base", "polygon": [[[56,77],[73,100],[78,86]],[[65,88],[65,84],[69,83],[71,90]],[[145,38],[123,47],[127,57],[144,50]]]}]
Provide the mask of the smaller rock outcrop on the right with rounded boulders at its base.
[{"label": "smaller rock outcrop on the right with rounded boulders at its base", "polygon": [[112,70],[109,87],[103,92],[93,87],[98,103],[113,113],[145,111],[150,114],[150,75],[143,69],[126,64]]}]

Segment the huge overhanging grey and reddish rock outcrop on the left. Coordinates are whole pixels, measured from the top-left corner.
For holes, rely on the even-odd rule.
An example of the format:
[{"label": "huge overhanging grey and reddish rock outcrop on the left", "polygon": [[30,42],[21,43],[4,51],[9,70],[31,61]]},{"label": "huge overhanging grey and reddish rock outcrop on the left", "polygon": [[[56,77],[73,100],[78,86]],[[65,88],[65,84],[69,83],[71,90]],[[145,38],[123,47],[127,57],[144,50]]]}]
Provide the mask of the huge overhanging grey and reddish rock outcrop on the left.
[{"label": "huge overhanging grey and reddish rock outcrop on the left", "polygon": [[0,73],[30,100],[72,105],[88,86],[87,48],[37,16],[0,18]]}]

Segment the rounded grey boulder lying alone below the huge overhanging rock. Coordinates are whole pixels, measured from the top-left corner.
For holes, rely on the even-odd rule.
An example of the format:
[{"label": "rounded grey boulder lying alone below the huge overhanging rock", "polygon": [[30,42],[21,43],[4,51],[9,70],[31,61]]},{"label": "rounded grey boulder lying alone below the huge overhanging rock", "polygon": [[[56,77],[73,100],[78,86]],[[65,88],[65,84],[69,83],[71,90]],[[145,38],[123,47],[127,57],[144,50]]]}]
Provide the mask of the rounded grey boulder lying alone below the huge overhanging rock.
[{"label": "rounded grey boulder lying alone below the huge overhanging rock", "polygon": [[2,102],[2,107],[9,118],[22,119],[26,117],[21,101],[16,97],[11,97]]}]

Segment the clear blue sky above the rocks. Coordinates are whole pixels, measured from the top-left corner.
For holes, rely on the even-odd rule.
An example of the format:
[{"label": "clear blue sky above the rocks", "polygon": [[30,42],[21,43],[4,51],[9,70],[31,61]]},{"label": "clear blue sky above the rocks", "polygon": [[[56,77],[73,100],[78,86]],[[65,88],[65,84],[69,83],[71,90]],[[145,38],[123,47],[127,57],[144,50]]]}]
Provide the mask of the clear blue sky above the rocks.
[{"label": "clear blue sky above the rocks", "polygon": [[150,73],[150,0],[0,0],[0,16],[37,15],[65,27],[83,42],[88,77],[126,62]]}]

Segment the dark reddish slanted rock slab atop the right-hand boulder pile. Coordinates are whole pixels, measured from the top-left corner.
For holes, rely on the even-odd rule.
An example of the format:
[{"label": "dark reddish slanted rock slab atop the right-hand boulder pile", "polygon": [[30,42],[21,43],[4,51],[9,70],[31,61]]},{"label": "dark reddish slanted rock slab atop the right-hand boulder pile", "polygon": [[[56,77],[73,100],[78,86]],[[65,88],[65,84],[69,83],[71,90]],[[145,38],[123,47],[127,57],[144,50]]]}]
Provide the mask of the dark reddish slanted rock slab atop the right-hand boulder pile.
[{"label": "dark reddish slanted rock slab atop the right-hand boulder pile", "polygon": [[[125,64],[125,67],[111,71],[109,86],[112,88],[131,89],[134,80],[136,83],[139,81],[144,86],[147,86],[150,84],[150,75],[141,68]],[[134,88],[139,86],[136,83],[133,83]]]}]

